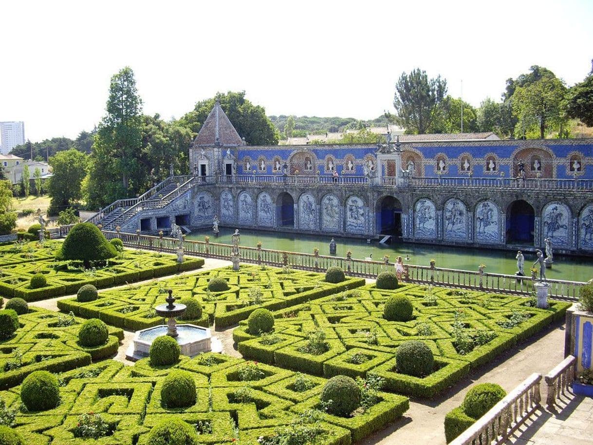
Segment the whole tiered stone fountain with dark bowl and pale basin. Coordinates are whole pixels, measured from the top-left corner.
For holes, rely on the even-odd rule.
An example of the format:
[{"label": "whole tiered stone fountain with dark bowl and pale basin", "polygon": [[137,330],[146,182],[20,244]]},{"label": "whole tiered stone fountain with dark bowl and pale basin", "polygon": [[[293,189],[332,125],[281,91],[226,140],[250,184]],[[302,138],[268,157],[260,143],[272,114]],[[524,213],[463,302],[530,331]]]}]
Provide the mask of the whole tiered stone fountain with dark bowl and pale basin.
[{"label": "whole tiered stone fountain with dark bowl and pale basin", "polygon": [[167,319],[167,325],[138,330],[126,351],[126,358],[136,361],[148,357],[152,342],[162,335],[176,339],[182,355],[193,357],[202,352],[221,352],[222,344],[216,337],[212,337],[210,329],[196,325],[177,325],[175,317],[182,316],[187,307],[185,304],[175,303],[176,298],[173,297],[173,290],[169,289],[167,292],[169,293],[165,300],[167,304],[155,307],[157,315]]}]

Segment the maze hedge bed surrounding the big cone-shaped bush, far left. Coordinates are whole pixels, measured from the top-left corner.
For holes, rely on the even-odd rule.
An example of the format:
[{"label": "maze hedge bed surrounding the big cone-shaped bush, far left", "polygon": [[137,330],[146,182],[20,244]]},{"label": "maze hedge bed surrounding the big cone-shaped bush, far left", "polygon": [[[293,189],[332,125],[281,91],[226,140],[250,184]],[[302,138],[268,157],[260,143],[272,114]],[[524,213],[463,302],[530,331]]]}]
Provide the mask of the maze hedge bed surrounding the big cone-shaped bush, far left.
[{"label": "maze hedge bed surrounding the big cone-shaped bush, far left", "polygon": [[[106,267],[83,271],[72,266],[68,268],[69,262],[57,262],[55,252],[59,247],[60,241],[1,246],[0,295],[26,301],[43,300],[75,294],[85,284],[110,287],[197,269],[204,264],[199,258],[186,258],[183,263],[177,263],[173,255],[126,249],[119,257],[110,259]],[[45,287],[30,288],[31,277],[35,274],[46,277]]]}]

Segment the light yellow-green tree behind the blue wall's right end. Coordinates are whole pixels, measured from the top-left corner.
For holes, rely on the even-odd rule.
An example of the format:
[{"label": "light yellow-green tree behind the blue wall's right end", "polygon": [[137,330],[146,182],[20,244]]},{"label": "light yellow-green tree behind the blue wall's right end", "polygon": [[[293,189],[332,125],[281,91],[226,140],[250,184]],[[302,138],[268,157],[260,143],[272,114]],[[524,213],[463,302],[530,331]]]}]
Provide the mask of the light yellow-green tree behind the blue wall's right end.
[{"label": "light yellow-green tree behind the blue wall's right end", "polygon": [[530,128],[538,127],[540,138],[549,127],[560,127],[566,122],[563,101],[566,87],[557,77],[546,75],[537,81],[515,88],[512,96],[513,113],[518,118],[515,135],[523,137]]}]

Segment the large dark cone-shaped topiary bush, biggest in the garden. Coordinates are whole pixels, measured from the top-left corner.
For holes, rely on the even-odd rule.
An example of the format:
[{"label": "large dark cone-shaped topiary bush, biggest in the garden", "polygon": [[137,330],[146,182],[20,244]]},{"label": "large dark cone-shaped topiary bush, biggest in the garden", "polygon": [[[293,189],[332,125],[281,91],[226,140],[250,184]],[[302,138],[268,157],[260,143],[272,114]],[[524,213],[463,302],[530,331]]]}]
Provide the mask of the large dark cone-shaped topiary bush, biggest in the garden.
[{"label": "large dark cone-shaped topiary bush, biggest in the garden", "polygon": [[72,227],[56,258],[80,260],[88,268],[91,261],[106,260],[116,255],[116,248],[107,241],[97,226],[90,222],[81,222]]}]

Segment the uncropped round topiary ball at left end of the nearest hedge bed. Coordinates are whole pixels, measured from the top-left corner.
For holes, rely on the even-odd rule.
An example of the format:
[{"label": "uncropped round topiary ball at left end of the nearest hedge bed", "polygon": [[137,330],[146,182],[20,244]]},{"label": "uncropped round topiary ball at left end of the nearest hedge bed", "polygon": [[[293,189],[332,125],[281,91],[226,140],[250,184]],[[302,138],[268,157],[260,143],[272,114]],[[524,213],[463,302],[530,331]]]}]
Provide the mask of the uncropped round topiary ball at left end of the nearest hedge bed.
[{"label": "uncropped round topiary ball at left end of the nearest hedge bed", "polygon": [[60,404],[58,377],[49,371],[35,371],[21,384],[21,401],[29,411],[47,411]]}]

